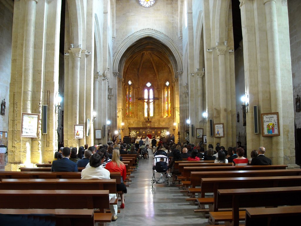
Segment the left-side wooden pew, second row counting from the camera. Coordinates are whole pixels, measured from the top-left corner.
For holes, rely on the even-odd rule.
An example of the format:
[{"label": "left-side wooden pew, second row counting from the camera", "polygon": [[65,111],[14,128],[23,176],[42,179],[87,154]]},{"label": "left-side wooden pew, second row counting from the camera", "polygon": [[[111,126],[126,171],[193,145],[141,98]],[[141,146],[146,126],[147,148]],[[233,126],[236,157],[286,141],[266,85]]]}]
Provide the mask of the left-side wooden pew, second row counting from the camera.
[{"label": "left-side wooden pew, second row counting from the camera", "polygon": [[[108,190],[0,190],[5,209],[108,209]],[[112,214],[98,213],[94,220],[110,222]]]}]

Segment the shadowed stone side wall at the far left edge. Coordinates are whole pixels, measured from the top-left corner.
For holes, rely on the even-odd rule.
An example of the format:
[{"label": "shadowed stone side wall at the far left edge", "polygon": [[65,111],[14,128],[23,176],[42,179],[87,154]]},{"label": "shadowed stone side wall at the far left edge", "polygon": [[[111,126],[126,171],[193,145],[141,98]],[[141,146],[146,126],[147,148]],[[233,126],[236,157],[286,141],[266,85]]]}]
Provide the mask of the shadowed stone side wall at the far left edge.
[{"label": "shadowed stone side wall at the far left edge", "polygon": [[[0,131],[8,131],[9,83],[11,81],[11,39],[13,13],[0,2],[0,104],[6,102],[5,115],[0,115]],[[6,145],[6,144],[5,144]]]}]

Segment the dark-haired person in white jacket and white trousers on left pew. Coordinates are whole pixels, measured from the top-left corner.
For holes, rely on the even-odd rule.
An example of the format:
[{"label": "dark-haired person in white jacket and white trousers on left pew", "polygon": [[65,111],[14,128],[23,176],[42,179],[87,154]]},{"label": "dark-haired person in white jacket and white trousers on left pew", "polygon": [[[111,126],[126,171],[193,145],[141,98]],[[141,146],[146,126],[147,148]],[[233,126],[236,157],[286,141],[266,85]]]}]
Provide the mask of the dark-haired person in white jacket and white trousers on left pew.
[{"label": "dark-haired person in white jacket and white trousers on left pew", "polygon": [[[89,150],[86,150],[90,152]],[[86,153],[86,152],[85,152]],[[91,153],[92,154],[92,153]],[[82,170],[82,179],[110,179],[110,171],[100,167],[101,163],[104,161],[104,154],[98,152],[95,155],[92,155],[89,159],[90,167]],[[116,194],[109,194],[109,199],[116,199]],[[117,220],[117,205],[110,205],[111,213],[113,214],[112,221]]]}]

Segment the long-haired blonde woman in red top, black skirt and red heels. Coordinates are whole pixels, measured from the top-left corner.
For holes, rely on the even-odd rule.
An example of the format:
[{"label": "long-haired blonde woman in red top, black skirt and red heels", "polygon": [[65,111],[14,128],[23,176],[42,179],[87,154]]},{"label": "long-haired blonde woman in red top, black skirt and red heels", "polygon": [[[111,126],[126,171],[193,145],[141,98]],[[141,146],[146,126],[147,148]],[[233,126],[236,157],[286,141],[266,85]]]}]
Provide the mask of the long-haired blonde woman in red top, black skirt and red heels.
[{"label": "long-haired blonde woman in red top, black skirt and red heels", "polygon": [[126,166],[120,161],[119,149],[114,149],[112,154],[112,161],[108,162],[106,169],[110,172],[120,172],[121,184],[116,184],[116,191],[122,191],[120,208],[124,208],[124,193],[127,193],[126,186],[123,184],[123,180],[126,179]]}]

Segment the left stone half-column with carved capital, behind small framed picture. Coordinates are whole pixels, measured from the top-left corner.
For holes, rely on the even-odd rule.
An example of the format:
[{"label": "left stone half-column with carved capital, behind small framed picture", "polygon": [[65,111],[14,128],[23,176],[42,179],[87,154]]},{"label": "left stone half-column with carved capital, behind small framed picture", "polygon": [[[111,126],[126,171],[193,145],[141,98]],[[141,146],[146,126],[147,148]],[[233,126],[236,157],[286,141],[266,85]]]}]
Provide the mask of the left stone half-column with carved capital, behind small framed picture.
[{"label": "left stone half-column with carved capital, behind small framed picture", "polygon": [[[80,58],[81,58],[82,48],[71,48],[70,50],[73,54],[72,88],[74,90],[76,90],[76,92],[73,92],[73,94],[72,94],[72,117],[70,118],[70,121],[72,121],[72,124],[78,124],[79,123],[79,92],[78,92],[78,90],[79,90]],[[70,88],[70,86],[69,86],[69,88]],[[73,142],[69,146],[76,147],[79,145],[79,141],[75,140],[74,136],[73,136],[72,140],[73,140]]]}]

